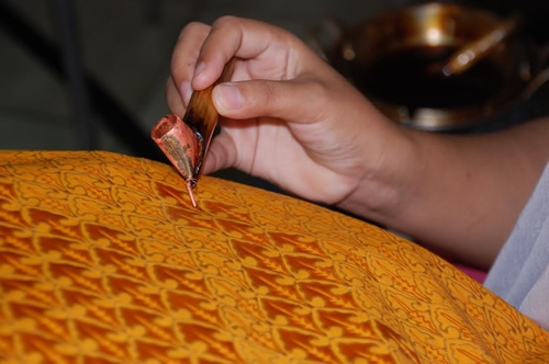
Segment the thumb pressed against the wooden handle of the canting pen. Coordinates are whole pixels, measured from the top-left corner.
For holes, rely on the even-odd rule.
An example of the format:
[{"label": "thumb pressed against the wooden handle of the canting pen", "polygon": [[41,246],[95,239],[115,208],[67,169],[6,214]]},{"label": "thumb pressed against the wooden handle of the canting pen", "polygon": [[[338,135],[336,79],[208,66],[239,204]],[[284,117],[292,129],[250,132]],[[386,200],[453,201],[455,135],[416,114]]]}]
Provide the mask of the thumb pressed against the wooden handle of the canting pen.
[{"label": "thumb pressed against the wooden handle of the canting pen", "polygon": [[229,118],[277,117],[307,122],[326,104],[326,89],[317,81],[251,80],[216,86],[212,101]]}]

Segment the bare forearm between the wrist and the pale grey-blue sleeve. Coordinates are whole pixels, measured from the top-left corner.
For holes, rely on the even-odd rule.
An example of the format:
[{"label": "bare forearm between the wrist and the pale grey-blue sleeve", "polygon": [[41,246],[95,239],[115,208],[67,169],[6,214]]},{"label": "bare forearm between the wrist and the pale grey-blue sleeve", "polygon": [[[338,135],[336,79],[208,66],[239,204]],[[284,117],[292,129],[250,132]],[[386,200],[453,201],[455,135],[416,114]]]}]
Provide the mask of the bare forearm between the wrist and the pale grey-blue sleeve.
[{"label": "bare forearm between the wrist and the pale grey-blue sleeve", "polygon": [[478,136],[405,134],[389,170],[341,207],[490,266],[549,158],[549,120]]}]

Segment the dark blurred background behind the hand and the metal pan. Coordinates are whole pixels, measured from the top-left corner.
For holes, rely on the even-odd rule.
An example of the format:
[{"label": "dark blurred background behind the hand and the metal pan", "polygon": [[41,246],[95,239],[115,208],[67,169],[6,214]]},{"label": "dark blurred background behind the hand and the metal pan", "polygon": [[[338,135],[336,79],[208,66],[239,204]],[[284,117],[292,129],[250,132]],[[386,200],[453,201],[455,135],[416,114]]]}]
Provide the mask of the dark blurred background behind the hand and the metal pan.
[{"label": "dark blurred background behind the hand and the metal pan", "polygon": [[[0,148],[100,149],[163,160],[149,132],[168,113],[171,50],[188,22],[247,16],[307,41],[325,16],[352,25],[419,2],[0,0]],[[549,34],[547,2],[459,1],[501,13],[524,10],[540,43]],[[72,82],[69,75],[76,75]]]}]

